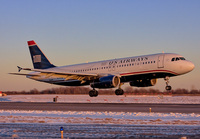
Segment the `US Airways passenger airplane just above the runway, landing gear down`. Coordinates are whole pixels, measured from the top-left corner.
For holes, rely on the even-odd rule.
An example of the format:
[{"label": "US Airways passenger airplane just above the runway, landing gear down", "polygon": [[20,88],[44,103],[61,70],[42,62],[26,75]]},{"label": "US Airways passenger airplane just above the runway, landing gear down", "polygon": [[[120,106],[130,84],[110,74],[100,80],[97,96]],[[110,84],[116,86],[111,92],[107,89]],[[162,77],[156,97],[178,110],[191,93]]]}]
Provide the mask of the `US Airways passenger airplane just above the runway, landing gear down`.
[{"label": "US Airways passenger airplane just above the runway, landing gear down", "polygon": [[[126,57],[98,62],[82,63],[57,67],[53,65],[34,40],[28,41],[28,46],[34,68],[21,68],[18,73],[29,79],[40,82],[63,85],[90,85],[90,97],[97,97],[98,89],[118,88],[116,95],[123,95],[121,86],[129,83],[134,87],[149,87],[157,83],[158,78],[164,78],[166,90],[171,90],[169,78],[188,73],[194,69],[194,64],[183,56],[174,53],[158,53],[136,57]],[[28,74],[21,70],[32,71]]]}]

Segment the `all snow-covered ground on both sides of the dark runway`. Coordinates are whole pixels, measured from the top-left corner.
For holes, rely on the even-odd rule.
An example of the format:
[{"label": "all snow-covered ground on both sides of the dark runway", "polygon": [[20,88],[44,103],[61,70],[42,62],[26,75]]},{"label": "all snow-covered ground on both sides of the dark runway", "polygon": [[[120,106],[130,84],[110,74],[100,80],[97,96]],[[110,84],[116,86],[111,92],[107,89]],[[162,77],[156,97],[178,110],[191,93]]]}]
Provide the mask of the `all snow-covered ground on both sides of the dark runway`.
[{"label": "all snow-covered ground on both sides of the dark runway", "polygon": [[[200,104],[200,96],[12,95],[6,102]],[[200,114],[0,110],[0,138],[200,138]]]}]

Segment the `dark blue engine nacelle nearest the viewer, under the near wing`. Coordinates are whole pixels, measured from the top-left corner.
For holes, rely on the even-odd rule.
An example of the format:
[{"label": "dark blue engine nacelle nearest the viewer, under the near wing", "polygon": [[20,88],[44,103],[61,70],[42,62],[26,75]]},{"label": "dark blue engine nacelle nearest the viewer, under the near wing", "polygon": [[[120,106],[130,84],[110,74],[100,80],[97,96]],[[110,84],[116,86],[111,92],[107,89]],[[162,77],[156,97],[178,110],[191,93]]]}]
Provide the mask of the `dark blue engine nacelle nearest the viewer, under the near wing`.
[{"label": "dark blue engine nacelle nearest the viewer, under the near wing", "polygon": [[109,75],[99,78],[99,81],[91,83],[92,88],[114,88],[120,84],[120,78],[115,75]]}]

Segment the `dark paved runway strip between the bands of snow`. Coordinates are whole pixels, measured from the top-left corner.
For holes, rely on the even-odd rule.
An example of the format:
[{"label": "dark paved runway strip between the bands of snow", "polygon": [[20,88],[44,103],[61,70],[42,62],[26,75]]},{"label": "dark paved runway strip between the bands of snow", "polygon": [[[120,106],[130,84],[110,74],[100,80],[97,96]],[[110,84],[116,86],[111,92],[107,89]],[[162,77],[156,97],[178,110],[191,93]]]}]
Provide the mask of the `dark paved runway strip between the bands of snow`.
[{"label": "dark paved runway strip between the bands of snow", "polygon": [[0,102],[0,110],[200,113],[200,104]]}]

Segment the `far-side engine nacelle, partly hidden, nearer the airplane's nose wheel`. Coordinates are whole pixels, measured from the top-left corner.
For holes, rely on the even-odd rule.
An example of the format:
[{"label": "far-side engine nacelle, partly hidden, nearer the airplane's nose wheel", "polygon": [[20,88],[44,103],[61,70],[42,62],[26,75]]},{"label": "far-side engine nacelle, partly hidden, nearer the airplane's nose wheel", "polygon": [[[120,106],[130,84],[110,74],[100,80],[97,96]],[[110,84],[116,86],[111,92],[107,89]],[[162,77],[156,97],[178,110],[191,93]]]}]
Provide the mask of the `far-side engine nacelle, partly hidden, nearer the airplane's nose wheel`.
[{"label": "far-side engine nacelle, partly hidden, nearer the airplane's nose wheel", "polygon": [[148,87],[148,86],[154,86],[156,83],[157,83],[157,79],[136,80],[136,81],[130,82],[130,86]]}]

